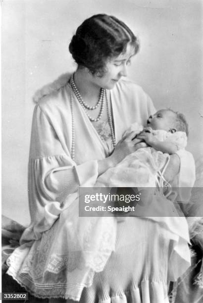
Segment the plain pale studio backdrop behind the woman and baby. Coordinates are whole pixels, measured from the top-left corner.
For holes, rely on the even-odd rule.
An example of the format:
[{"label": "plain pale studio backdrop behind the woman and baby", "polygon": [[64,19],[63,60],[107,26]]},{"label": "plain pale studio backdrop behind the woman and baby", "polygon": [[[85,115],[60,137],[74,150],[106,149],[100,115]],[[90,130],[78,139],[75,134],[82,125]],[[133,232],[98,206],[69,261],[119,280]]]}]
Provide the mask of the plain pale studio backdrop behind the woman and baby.
[{"label": "plain pale studio backdrop behind the woman and baby", "polygon": [[[203,156],[202,0],[2,0],[2,214],[27,225],[27,163],[32,96],[76,68],[68,45],[96,13],[115,15],[135,32],[141,50],[129,78],[156,108],[183,112],[187,150]],[[127,106],[127,104],[126,104]]]}]

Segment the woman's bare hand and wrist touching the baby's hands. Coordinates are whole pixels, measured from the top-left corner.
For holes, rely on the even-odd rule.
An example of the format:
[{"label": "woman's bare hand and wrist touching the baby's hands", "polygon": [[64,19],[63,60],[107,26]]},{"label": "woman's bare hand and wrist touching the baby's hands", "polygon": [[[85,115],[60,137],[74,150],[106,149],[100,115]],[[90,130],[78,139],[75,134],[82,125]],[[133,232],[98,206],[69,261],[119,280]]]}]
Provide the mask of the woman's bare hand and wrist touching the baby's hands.
[{"label": "woman's bare hand and wrist touching the baby's hands", "polygon": [[98,161],[98,173],[101,175],[108,168],[116,166],[122,161],[128,154],[137,151],[140,148],[147,147],[148,145],[142,140],[135,138],[137,132],[133,131],[129,135],[123,137],[115,147],[113,153]]}]

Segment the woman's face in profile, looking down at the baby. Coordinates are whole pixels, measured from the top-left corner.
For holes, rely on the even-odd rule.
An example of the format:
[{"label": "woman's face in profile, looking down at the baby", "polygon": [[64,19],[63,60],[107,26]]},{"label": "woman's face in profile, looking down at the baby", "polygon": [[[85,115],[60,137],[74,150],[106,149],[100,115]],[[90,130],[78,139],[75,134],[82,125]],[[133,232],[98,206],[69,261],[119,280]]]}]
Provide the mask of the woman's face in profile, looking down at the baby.
[{"label": "woman's face in profile, looking down at the baby", "polygon": [[105,74],[102,77],[93,76],[92,82],[100,88],[111,90],[122,76],[127,76],[127,67],[133,55],[134,49],[129,43],[126,52],[107,61]]}]

